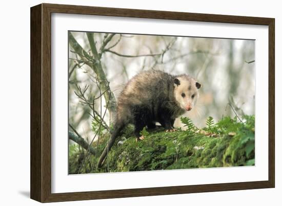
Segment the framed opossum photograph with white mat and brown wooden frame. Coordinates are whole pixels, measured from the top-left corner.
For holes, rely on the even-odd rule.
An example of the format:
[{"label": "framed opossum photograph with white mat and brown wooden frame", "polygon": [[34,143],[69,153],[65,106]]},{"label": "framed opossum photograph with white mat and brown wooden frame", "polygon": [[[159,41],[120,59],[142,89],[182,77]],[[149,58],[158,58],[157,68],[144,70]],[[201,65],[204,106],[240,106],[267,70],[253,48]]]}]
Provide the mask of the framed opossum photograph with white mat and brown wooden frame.
[{"label": "framed opossum photograph with white mat and brown wooden frame", "polygon": [[273,188],[274,19],[31,8],[31,198]]}]

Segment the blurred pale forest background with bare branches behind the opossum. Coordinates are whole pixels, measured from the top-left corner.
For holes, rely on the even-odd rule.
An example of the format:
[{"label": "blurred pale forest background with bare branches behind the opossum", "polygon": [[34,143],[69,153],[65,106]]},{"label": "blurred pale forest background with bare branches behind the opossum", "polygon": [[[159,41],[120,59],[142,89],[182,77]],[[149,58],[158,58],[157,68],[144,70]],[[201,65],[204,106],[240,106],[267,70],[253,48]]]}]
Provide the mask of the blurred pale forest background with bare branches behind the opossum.
[{"label": "blurred pale forest background with bare branches behind the opossum", "polygon": [[254,115],[254,60],[254,40],[69,32],[70,127],[88,143],[98,140],[111,127],[125,84],[151,69],[189,74],[202,84],[196,106],[185,114],[197,127],[209,116],[217,122]]}]

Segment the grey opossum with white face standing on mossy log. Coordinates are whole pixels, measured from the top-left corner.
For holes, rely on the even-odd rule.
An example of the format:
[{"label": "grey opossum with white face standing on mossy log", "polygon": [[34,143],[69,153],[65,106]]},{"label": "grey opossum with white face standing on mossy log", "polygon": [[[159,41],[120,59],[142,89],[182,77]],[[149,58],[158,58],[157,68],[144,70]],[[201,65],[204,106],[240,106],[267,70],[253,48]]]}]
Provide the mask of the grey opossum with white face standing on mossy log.
[{"label": "grey opossum with white face standing on mossy log", "polygon": [[120,131],[127,124],[134,124],[136,140],[143,140],[140,131],[146,126],[154,128],[156,122],[172,131],[175,118],[195,106],[200,87],[200,83],[186,74],[173,76],[150,70],[135,75],[117,100],[114,129],[97,167],[102,166]]}]

